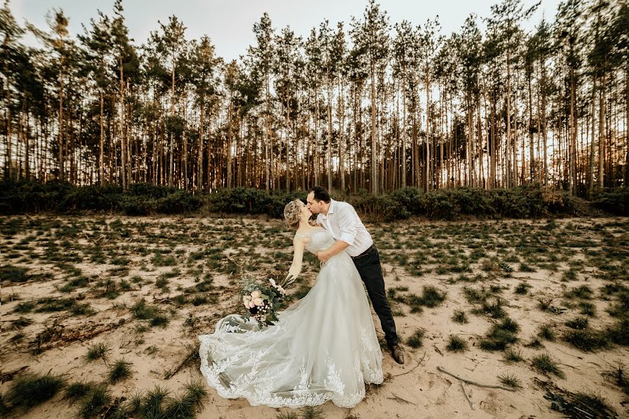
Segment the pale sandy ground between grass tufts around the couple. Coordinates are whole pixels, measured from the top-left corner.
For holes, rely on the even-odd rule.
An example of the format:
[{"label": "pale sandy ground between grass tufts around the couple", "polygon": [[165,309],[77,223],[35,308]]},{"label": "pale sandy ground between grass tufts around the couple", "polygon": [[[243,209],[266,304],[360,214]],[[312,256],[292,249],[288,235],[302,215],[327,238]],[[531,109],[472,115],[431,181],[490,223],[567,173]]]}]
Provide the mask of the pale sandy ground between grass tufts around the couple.
[{"label": "pale sandy ground between grass tufts around the couple", "polygon": [[[45,374],[52,372],[62,374],[68,381],[106,381],[108,365],[114,360],[124,358],[131,363],[133,376],[126,381],[111,385],[110,389],[117,397],[147,390],[159,385],[173,392],[180,390],[184,383],[194,379],[203,379],[198,371],[198,360],[184,365],[171,378],[166,379],[168,372],[181,364],[191,348],[196,345],[196,336],[212,332],[218,318],[240,310],[238,307],[238,282],[242,275],[229,272],[229,266],[242,265],[236,270],[246,270],[246,266],[254,266],[282,272],[287,270],[291,256],[291,232],[284,228],[280,221],[266,219],[200,219],[200,218],[125,218],[117,216],[83,216],[56,217],[47,216],[13,217],[18,219],[19,226],[13,234],[2,233],[0,262],[2,265],[25,267],[29,274],[52,273],[50,279],[35,279],[26,282],[3,281],[0,306],[0,362],[3,383],[2,392],[11,385],[12,378],[33,372]],[[4,228],[10,225],[11,219],[1,220]],[[121,223],[118,233],[111,233],[112,223]],[[537,269],[536,272],[519,272],[519,263],[512,263],[514,272],[507,277],[491,275],[482,269],[482,260],[491,256],[501,258],[517,254],[515,246],[518,235],[527,235],[537,231],[547,223],[541,221],[460,221],[456,223],[438,223],[421,220],[405,221],[392,224],[368,224],[381,251],[385,281],[387,288],[407,287],[403,294],[421,294],[424,286],[435,286],[445,291],[447,297],[438,307],[424,309],[419,313],[411,313],[410,307],[402,302],[391,301],[396,312],[398,334],[405,342],[415,330],[425,331],[423,345],[419,348],[404,346],[406,353],[405,365],[397,365],[391,356],[384,352],[385,380],[382,385],[370,385],[366,398],[354,409],[341,409],[331,402],[322,406],[325,418],[562,418],[563,415],[550,409],[550,402],[544,399],[544,390],[535,384],[535,378],[552,381],[554,384],[571,392],[595,393],[604,397],[621,418],[628,418],[627,398],[621,390],[606,380],[601,372],[624,361],[629,364],[629,349],[626,346],[584,352],[567,344],[561,339],[542,341],[544,348],[528,348],[523,344],[534,337],[537,328],[542,324],[554,324],[561,333],[565,330],[563,323],[578,315],[574,307],[575,301],[565,300],[565,291],[582,284],[588,285],[594,296],[589,300],[595,305],[596,316],[590,318],[590,325],[602,330],[612,325],[616,319],[609,316],[605,309],[614,304],[614,300],[598,298],[599,289],[609,282],[609,277],[602,277],[600,270],[588,263],[583,248],[572,248],[563,243],[554,247],[549,238],[540,238],[540,245],[547,247],[547,253],[556,254],[556,270]],[[78,231],[60,236],[63,226],[78,226]],[[609,247],[617,240],[628,237],[629,219],[561,219],[557,220],[556,231],[567,231],[568,240],[586,240],[591,244],[588,249]],[[96,226],[96,227],[94,227]],[[503,237],[500,228],[513,230],[509,237]],[[454,233],[449,232],[452,228]],[[477,238],[473,232],[482,232],[486,228],[496,230],[487,237],[491,242],[483,244],[483,237]],[[128,233],[125,233],[125,229]],[[493,231],[492,230],[492,231]],[[43,232],[43,233],[38,233]],[[56,233],[55,233],[56,232]],[[122,232],[122,233],[121,233]],[[527,233],[529,232],[529,233]],[[552,235],[552,234],[551,234]],[[31,237],[31,239],[28,239]],[[82,274],[89,277],[89,284],[72,291],[60,291],[71,277],[68,271],[55,266],[54,256],[45,256],[45,241],[57,242],[61,247],[60,254],[68,256],[73,253],[83,254],[80,262],[70,263],[79,268]],[[539,237],[539,236],[538,236]],[[549,236],[550,237],[550,236]],[[572,239],[570,239],[572,237]],[[27,239],[27,240],[24,240]],[[248,242],[247,242],[248,240]],[[428,240],[428,243],[426,243]],[[24,243],[26,241],[27,243]],[[63,242],[66,241],[64,244]],[[22,242],[22,244],[20,244]],[[422,246],[419,243],[422,242]],[[483,279],[477,282],[457,280],[459,273],[447,272],[438,274],[433,263],[422,263],[424,273],[413,274],[410,265],[417,253],[429,255],[444,249],[458,249],[461,254],[470,254],[473,250],[469,244],[480,243],[484,256],[470,263],[471,272],[465,274],[473,277],[479,275]],[[547,244],[551,243],[551,244]],[[92,262],[87,251],[101,247],[106,253],[103,262]],[[206,257],[190,258],[191,253],[207,250],[210,247],[220,249],[217,263],[208,267]],[[141,248],[145,248],[143,251]],[[140,250],[138,250],[140,249]],[[153,249],[169,249],[176,260],[175,265],[155,266],[152,263]],[[502,249],[502,250],[500,250]],[[110,252],[109,254],[108,251]],[[626,252],[626,247],[624,248]],[[278,253],[280,252],[280,253]],[[29,256],[30,253],[30,256]],[[144,256],[141,253],[145,253]],[[120,265],[111,264],[114,256],[126,256],[128,260],[122,266],[127,267],[126,275],[116,276],[112,270]],[[401,263],[396,256],[408,256],[407,262]],[[580,260],[580,262],[579,262]],[[618,258],[610,259],[609,263],[621,263]],[[522,261],[522,260],[521,260]],[[229,265],[231,262],[231,265]],[[625,261],[626,263],[626,261]],[[219,265],[219,267],[217,267]],[[305,285],[314,284],[317,267],[310,260],[306,264],[308,272],[303,281]],[[626,265],[624,265],[626,266]],[[562,272],[569,267],[578,267],[574,281],[562,281]],[[154,284],[159,274],[179,272],[168,279],[168,291],[157,288]],[[65,270],[64,270],[65,269]],[[196,270],[196,271],[195,271]],[[251,270],[256,274],[260,270]],[[199,277],[210,274],[212,288],[205,291],[210,300],[198,306],[193,304],[175,304],[173,297],[182,290],[198,284]],[[133,277],[137,282],[131,281]],[[120,283],[126,279],[131,288],[120,291],[113,297],[103,297],[103,286],[99,281]],[[526,295],[517,295],[514,288],[525,281],[530,285]],[[102,284],[102,283],[101,283]],[[479,288],[480,286],[497,285],[503,288],[501,296],[507,302],[505,310],[521,327],[520,341],[514,345],[521,351],[523,362],[507,363],[501,351],[482,351],[479,339],[484,337],[494,321],[489,316],[472,314],[474,304],[470,304],[464,295],[464,287]],[[20,302],[37,300],[43,297],[77,297],[80,302],[87,302],[94,314],[73,315],[68,311],[52,313],[37,312],[36,309],[27,313],[17,313],[15,309]],[[133,318],[130,307],[144,297],[148,304],[159,307],[169,318],[165,328],[147,328],[139,330],[138,325],[145,321]],[[566,308],[563,314],[554,314],[540,310],[538,297],[554,297],[557,305]],[[571,307],[572,306],[572,307]],[[455,309],[468,314],[469,323],[458,324],[451,317]],[[196,321],[194,325],[187,322],[189,316]],[[22,328],[22,339],[12,339],[18,333],[11,322],[17,318],[29,318],[33,323]],[[377,332],[379,322],[374,314]],[[41,346],[41,353],[34,354],[33,348],[38,335],[46,328],[60,330]],[[449,335],[456,334],[468,341],[469,350],[463,353],[447,351]],[[97,343],[107,344],[110,351],[106,360],[89,362],[85,359],[87,348]],[[530,360],[536,355],[548,352],[558,362],[565,373],[565,378],[545,376],[531,366]],[[449,372],[479,383],[498,385],[498,376],[514,374],[521,381],[522,388],[509,392],[500,389],[481,388],[477,385],[462,383],[455,378],[438,371],[442,367]],[[15,376],[13,372],[17,372]],[[208,388],[209,401],[198,412],[198,418],[275,418],[280,411],[289,409],[271,409],[268,407],[252,407],[244,399],[222,399],[215,390]],[[464,392],[469,398],[466,399]],[[75,406],[69,405],[59,393],[52,400],[36,406],[29,411],[18,409],[10,418],[68,418],[75,414]]]}]

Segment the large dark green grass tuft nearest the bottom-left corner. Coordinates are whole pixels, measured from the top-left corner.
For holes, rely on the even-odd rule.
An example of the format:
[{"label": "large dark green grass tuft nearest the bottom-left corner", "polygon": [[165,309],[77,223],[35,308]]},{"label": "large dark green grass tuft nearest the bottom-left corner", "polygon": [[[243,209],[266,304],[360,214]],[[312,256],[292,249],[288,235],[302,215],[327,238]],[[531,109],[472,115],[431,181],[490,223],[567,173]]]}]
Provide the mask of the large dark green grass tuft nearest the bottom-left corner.
[{"label": "large dark green grass tuft nearest the bottom-left corner", "polygon": [[52,374],[27,374],[13,382],[6,392],[6,401],[13,406],[30,409],[55,396],[65,384],[63,378]]}]

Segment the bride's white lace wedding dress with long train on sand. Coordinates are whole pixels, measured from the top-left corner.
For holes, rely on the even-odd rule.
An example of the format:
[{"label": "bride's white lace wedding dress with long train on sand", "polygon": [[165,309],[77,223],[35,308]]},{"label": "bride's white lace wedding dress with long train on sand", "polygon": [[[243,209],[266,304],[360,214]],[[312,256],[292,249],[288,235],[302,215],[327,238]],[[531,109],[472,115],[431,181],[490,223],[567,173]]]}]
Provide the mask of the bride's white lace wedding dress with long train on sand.
[{"label": "bride's white lace wedding dress with long train on sand", "polygon": [[[327,249],[334,240],[323,228],[308,233],[306,250]],[[332,400],[353,407],[365,383],[382,383],[382,351],[363,282],[342,251],[321,267],[308,295],[260,329],[231,314],[212,335],[202,335],[201,372],[227,399],[245,397],[252,406],[297,409]]]}]

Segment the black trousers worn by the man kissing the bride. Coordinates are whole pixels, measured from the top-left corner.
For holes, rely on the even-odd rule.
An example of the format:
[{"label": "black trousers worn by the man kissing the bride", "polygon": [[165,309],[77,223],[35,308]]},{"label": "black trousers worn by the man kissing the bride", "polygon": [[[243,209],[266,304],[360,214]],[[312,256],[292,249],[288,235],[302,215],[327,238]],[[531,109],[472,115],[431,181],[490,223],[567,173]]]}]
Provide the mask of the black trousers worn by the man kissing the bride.
[{"label": "black trousers worn by the man kissing the bride", "polygon": [[373,309],[380,319],[386,344],[389,347],[397,345],[396,322],[393,321],[391,307],[389,307],[389,302],[386,300],[386,293],[384,292],[384,278],[382,277],[382,266],[380,266],[378,249],[374,246],[366,253],[352,259],[361,275],[361,279],[365,283]]}]

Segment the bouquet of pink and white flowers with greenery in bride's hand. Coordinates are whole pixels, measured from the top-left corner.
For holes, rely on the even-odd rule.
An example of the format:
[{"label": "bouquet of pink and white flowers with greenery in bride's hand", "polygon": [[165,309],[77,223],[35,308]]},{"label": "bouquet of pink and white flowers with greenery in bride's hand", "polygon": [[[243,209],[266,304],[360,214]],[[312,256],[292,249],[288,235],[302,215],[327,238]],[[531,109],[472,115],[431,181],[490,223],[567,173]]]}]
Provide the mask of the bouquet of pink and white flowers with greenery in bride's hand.
[{"label": "bouquet of pink and white flowers with greenery in bride's hand", "polygon": [[276,312],[280,309],[286,290],[292,281],[289,275],[280,284],[275,283],[275,279],[269,278],[268,284],[263,281],[247,281],[243,286],[243,304],[249,312],[250,317],[254,318],[261,327],[273,325],[274,321],[280,321]]}]

